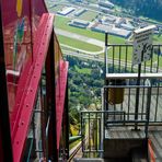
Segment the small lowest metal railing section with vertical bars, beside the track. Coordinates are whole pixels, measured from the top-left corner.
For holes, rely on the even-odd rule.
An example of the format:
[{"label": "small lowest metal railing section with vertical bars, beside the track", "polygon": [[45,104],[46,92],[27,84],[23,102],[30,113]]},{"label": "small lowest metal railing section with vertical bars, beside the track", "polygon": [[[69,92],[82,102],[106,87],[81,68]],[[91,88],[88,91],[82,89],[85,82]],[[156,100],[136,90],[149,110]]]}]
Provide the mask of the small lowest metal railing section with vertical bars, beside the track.
[{"label": "small lowest metal railing section with vertical bars, beside the track", "polygon": [[103,152],[103,113],[81,112],[81,137],[83,157],[97,158]]}]

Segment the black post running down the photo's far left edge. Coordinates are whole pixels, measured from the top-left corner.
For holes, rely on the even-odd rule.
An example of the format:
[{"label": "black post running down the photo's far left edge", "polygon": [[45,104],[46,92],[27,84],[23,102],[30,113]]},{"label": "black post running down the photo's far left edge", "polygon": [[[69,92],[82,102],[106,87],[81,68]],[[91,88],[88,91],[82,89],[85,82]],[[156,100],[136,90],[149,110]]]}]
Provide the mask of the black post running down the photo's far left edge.
[{"label": "black post running down the photo's far left edge", "polygon": [[4,62],[4,47],[3,47],[3,32],[1,19],[1,1],[0,1],[0,140],[2,149],[0,152],[3,161],[13,161],[12,143],[10,132],[10,118],[9,118],[9,104],[8,104],[8,90],[5,77],[5,62]]}]

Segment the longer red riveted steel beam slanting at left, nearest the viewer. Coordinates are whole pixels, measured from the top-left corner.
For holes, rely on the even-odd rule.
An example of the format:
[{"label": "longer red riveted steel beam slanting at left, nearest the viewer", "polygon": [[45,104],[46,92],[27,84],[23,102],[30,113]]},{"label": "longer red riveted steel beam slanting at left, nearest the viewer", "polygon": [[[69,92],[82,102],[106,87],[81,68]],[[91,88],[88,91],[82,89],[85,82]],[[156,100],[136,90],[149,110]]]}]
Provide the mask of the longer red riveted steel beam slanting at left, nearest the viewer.
[{"label": "longer red riveted steel beam slanting at left, nearest the viewer", "polygon": [[28,84],[24,88],[26,91],[24,91],[24,94],[22,95],[22,102],[20,105],[18,105],[19,109],[21,111],[21,115],[15,120],[18,126],[14,138],[12,139],[14,162],[20,162],[22,159],[26,136],[30,129],[31,118],[35,106],[35,100],[37,96],[38,84],[53,32],[53,14],[43,14],[36,32],[34,42],[34,56],[36,57],[30,67],[27,78],[25,78],[25,80],[27,80],[26,82],[28,82]]}]

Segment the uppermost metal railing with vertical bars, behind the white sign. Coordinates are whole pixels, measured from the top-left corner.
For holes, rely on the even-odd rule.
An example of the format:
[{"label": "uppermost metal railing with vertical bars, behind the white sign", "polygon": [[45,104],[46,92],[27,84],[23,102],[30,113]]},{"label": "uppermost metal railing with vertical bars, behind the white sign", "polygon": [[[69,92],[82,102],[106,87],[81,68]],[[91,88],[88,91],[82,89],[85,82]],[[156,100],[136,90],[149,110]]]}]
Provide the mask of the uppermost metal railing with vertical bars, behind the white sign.
[{"label": "uppermost metal railing with vertical bars, behind the white sign", "polygon": [[[106,57],[106,68],[109,73],[132,73],[137,72],[138,66],[131,65],[132,45],[126,44],[108,44]],[[151,59],[141,63],[141,71],[162,72],[162,45],[153,45],[151,50]]]}]

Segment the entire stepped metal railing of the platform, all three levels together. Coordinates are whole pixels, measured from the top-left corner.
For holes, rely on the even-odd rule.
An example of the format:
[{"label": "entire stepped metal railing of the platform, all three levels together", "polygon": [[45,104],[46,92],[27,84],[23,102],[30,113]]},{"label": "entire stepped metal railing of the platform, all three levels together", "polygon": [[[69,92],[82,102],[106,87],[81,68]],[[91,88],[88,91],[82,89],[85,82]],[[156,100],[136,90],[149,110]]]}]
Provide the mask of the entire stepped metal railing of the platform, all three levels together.
[{"label": "entire stepped metal railing of the platform, all three levels together", "polygon": [[138,138],[148,138],[149,126],[162,124],[162,45],[152,46],[151,59],[141,62],[140,74],[139,66],[131,63],[132,50],[132,45],[108,44],[108,34],[105,34],[102,109],[81,112],[85,157],[102,157],[106,138],[134,138],[135,134]]}]

